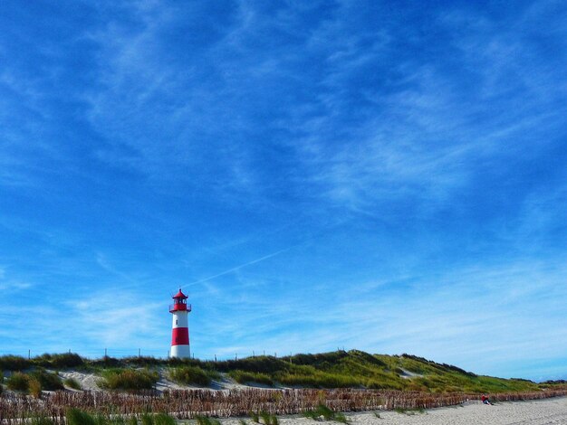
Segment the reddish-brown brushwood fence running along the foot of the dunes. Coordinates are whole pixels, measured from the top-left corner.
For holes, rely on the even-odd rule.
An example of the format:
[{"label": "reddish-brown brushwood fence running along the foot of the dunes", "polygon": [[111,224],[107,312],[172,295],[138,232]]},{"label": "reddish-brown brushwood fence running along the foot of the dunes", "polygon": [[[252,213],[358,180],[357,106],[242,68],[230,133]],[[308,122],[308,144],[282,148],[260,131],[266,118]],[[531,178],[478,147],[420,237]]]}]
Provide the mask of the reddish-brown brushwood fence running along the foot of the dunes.
[{"label": "reddish-brown brushwood fence running along the foot of the dunes", "polygon": [[[494,401],[536,400],[567,395],[567,390],[489,394]],[[64,424],[70,407],[125,417],[144,412],[167,412],[177,419],[196,415],[245,416],[250,411],[275,415],[301,413],[325,404],[332,411],[429,409],[479,400],[479,394],[399,392],[384,390],[173,390],[166,392],[51,392],[40,398],[5,392],[0,395],[0,424],[15,425],[25,418],[44,415]]]}]

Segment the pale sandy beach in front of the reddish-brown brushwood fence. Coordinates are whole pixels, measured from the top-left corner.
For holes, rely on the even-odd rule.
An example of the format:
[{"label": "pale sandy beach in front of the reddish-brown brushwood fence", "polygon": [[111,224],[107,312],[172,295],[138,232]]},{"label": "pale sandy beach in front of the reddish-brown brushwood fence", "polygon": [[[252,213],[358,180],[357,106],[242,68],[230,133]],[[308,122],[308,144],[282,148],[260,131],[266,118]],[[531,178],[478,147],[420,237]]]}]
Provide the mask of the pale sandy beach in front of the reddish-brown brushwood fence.
[{"label": "pale sandy beach in front of the reddish-brown brushwood fence", "polygon": [[[377,417],[380,414],[380,418]],[[469,402],[464,406],[398,413],[380,411],[347,413],[352,425],[554,425],[567,424],[567,397],[538,401],[510,401],[487,406]],[[240,425],[238,420],[221,420],[223,425]],[[254,423],[246,420],[249,424]],[[301,416],[283,417],[281,425],[312,425]],[[183,422],[181,422],[183,423]],[[328,423],[338,423],[331,422]]]}]

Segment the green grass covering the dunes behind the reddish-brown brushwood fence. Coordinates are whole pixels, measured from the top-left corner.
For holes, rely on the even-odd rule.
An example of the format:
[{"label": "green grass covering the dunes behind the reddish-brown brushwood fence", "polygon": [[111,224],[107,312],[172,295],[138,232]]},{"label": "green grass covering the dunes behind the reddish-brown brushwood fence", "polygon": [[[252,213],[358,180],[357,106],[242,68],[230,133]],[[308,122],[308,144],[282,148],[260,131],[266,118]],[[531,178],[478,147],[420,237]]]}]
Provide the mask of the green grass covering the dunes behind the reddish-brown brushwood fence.
[{"label": "green grass covering the dunes behind the reddish-brown brushwood fence", "polygon": [[[358,350],[280,358],[260,355],[222,362],[154,357],[88,360],[77,354],[43,354],[33,359],[0,356],[0,368],[8,371],[37,371],[42,366],[54,368],[55,364],[68,369],[91,369],[102,375],[104,388],[125,390],[152,388],[158,379],[157,367],[168,367],[169,378],[176,382],[201,386],[209,385],[211,379],[220,379],[220,373],[245,384],[423,392],[530,392],[564,385],[480,376],[415,355],[368,354]],[[140,366],[145,369],[139,369]],[[42,374],[34,376],[43,387],[47,386],[45,378]]]}]

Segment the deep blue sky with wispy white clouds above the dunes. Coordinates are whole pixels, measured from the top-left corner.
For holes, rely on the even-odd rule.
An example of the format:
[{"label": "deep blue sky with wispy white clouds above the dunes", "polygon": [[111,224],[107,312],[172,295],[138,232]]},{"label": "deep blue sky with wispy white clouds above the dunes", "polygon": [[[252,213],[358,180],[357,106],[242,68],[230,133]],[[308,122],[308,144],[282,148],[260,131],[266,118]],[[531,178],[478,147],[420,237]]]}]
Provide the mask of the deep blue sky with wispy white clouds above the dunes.
[{"label": "deep blue sky with wispy white clouds above the dunes", "polygon": [[0,7],[1,354],[567,376],[563,2]]}]

